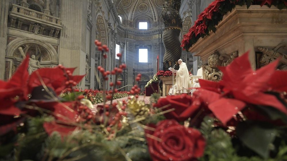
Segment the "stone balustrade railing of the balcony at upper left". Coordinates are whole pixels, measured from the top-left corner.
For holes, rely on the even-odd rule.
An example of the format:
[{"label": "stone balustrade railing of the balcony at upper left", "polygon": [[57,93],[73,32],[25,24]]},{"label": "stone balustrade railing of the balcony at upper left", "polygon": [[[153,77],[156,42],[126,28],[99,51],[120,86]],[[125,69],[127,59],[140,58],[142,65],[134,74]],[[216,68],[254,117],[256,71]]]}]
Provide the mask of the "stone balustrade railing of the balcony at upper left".
[{"label": "stone balustrade railing of the balcony at upper left", "polygon": [[29,9],[20,5],[16,5],[16,4],[12,4],[12,13],[18,13],[18,14],[22,14],[31,18],[36,18],[42,21],[46,21],[46,22],[50,22],[50,23],[55,23],[58,25],[61,25],[61,19],[51,16],[51,15],[47,15],[45,13],[42,12],[38,12],[35,11],[33,9]]}]

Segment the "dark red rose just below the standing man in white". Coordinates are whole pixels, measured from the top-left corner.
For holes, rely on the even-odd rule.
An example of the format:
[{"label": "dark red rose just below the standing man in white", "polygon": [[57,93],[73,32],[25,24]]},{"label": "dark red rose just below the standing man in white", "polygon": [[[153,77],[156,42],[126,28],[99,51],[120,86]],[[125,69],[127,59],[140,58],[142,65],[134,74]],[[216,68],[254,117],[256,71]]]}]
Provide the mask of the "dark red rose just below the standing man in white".
[{"label": "dark red rose just below the standing man in white", "polygon": [[160,98],[155,107],[163,107],[163,111],[174,108],[174,111],[165,113],[164,116],[168,119],[175,119],[179,122],[187,120],[200,106],[199,100],[192,100],[188,95],[171,96],[168,98]]}]

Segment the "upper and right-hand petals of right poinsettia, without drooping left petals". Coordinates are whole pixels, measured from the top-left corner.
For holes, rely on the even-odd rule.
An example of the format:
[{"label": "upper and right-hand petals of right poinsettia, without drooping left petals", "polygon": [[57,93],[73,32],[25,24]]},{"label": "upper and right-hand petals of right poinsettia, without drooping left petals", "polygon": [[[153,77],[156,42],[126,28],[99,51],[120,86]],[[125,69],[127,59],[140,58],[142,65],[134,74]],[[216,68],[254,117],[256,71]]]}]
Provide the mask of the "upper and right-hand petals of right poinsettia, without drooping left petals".
[{"label": "upper and right-hand petals of right poinsettia, without drooping left petals", "polygon": [[[253,71],[248,61],[248,55],[249,52],[246,52],[241,57],[234,59],[227,67],[219,68],[223,72],[222,81],[220,82],[224,86],[223,91],[232,93],[234,98],[238,100],[251,104],[272,106],[287,114],[286,107],[275,96],[264,93],[267,89],[272,89],[273,85],[268,86],[271,79],[278,79],[278,81],[286,79],[284,74],[283,77],[272,76],[277,73],[275,71],[279,59],[257,71]],[[285,71],[286,74],[287,71]],[[287,82],[281,84],[281,86],[286,87]]]}]

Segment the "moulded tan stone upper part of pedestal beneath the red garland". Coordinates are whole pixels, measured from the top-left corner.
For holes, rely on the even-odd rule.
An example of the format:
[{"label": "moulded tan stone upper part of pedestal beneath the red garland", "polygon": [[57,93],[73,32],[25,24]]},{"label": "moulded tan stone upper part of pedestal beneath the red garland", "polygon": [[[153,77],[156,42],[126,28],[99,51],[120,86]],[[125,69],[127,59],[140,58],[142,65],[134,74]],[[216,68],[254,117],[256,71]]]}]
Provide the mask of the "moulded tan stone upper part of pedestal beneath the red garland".
[{"label": "moulded tan stone upper part of pedestal beneath the red garland", "polygon": [[[236,52],[236,55],[241,56],[246,51],[250,51],[249,60],[252,68],[256,69],[259,62],[257,59],[260,59],[259,54],[261,53],[259,49],[266,48],[277,51],[278,45],[287,44],[286,26],[286,9],[279,10],[275,6],[269,8],[267,5],[262,7],[251,5],[249,9],[246,5],[236,6],[218,24],[216,34],[210,32],[209,36],[204,39],[200,38],[189,48],[189,52],[200,56],[204,66],[215,51],[220,54],[219,56],[227,58],[228,56],[232,57]],[[286,50],[282,50],[280,53],[286,53]],[[228,63],[222,64],[222,66]],[[208,79],[206,76],[203,73],[204,79]]]}]

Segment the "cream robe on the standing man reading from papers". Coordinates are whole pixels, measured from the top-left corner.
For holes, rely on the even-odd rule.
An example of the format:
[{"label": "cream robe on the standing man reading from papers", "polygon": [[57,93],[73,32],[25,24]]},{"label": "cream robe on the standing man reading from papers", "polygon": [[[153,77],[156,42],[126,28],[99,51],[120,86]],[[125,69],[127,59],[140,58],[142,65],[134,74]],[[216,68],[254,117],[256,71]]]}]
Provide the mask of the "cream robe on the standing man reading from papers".
[{"label": "cream robe on the standing man reading from papers", "polygon": [[177,85],[176,93],[189,93],[189,73],[184,62],[179,65],[179,70],[177,71],[175,79]]}]

